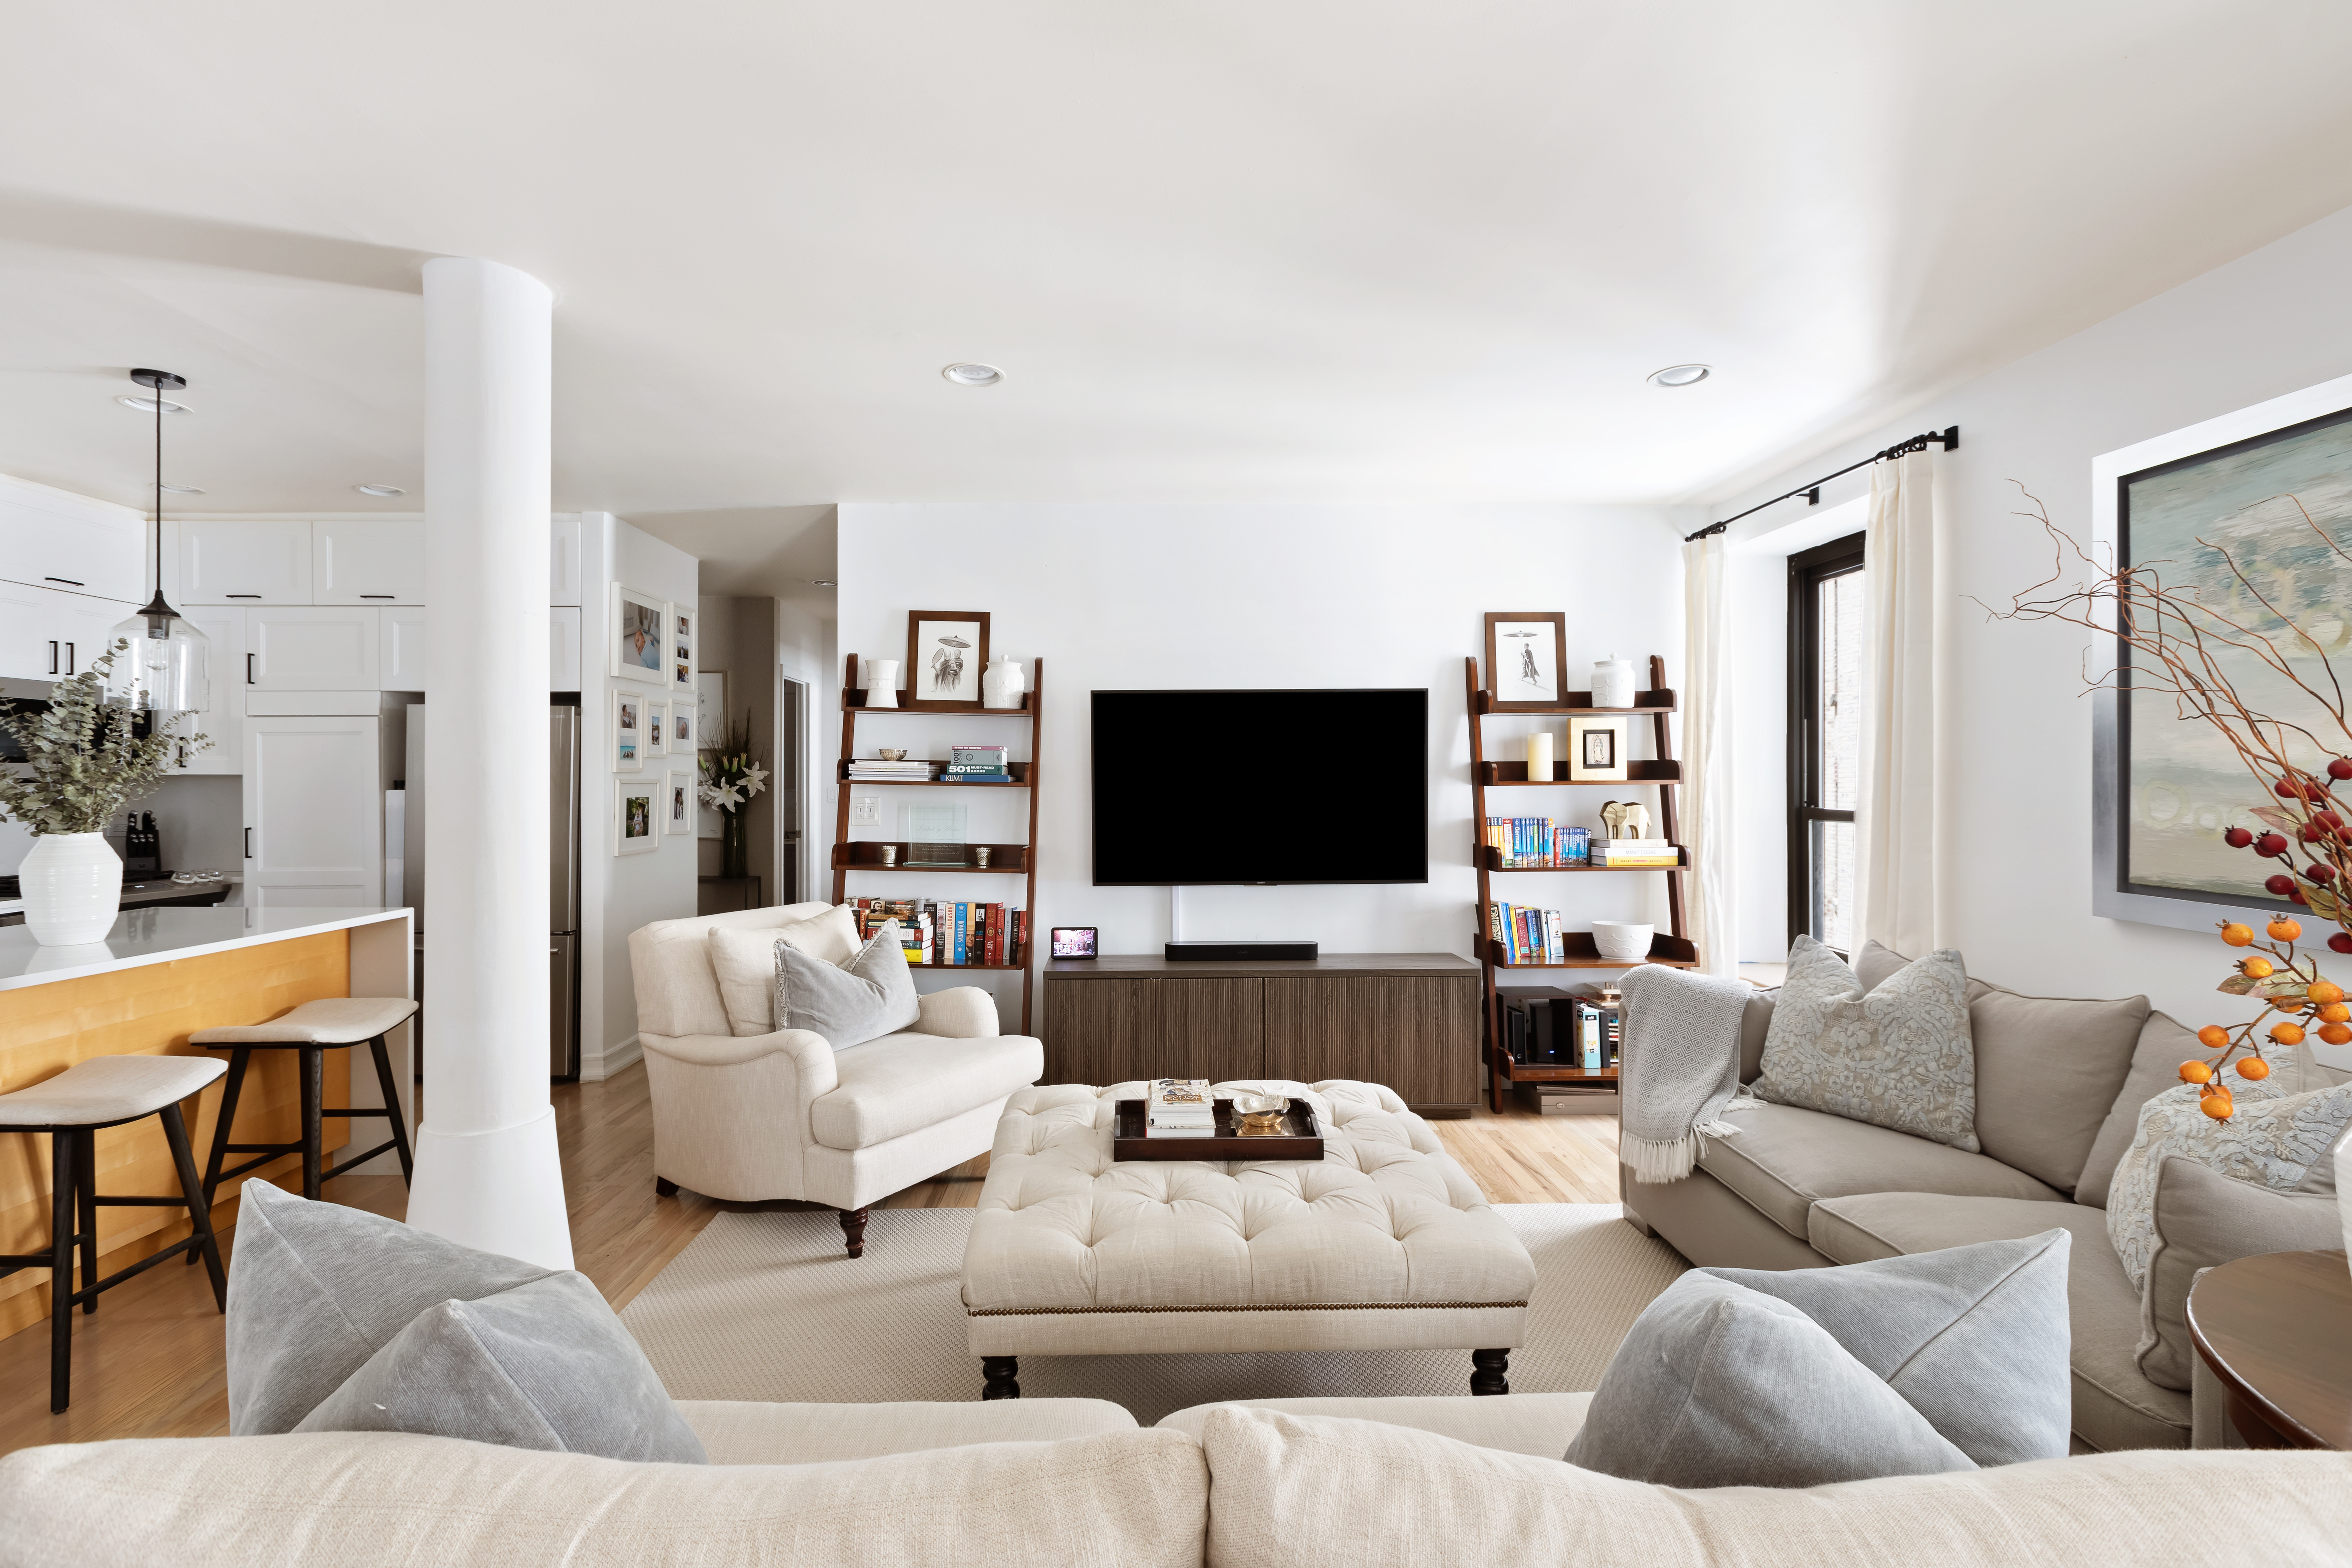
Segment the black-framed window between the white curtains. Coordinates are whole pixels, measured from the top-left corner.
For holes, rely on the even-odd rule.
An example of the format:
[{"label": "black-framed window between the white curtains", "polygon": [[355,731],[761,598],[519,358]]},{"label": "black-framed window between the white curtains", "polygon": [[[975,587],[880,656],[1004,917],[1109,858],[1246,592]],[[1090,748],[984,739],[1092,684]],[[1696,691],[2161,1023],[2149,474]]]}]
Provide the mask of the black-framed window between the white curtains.
[{"label": "black-framed window between the white curtains", "polygon": [[1788,929],[1851,954],[1863,785],[1863,536],[1788,557]]}]

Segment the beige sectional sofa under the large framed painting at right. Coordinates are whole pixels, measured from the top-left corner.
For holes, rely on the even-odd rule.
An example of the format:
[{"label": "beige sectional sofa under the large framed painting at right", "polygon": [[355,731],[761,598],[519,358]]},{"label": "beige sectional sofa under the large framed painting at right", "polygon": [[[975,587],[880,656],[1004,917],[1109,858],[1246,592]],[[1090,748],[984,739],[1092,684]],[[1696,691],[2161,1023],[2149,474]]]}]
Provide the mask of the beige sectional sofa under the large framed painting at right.
[{"label": "beige sectional sofa under the large framed painting at right", "polygon": [[[1853,969],[1870,990],[1903,964],[1872,943]],[[1769,1020],[1771,994],[1759,992],[1740,1039],[1743,1084],[1762,1067]],[[2194,1032],[2150,1011],[2145,997],[2023,997],[1985,980],[1969,983],[1969,1023],[1983,1154],[1795,1105],[1752,1105],[1726,1117],[1740,1133],[1708,1138],[1698,1171],[1679,1182],[1635,1182],[1621,1166],[1625,1218],[1696,1265],[1748,1269],[1865,1262],[2063,1225],[2074,1237],[2074,1436],[2098,1450],[2183,1448],[2194,1427],[2199,1443],[2218,1446],[2218,1408],[2192,1406],[2192,1356],[2140,1354],[2140,1293],[2107,1241],[2105,1213],[2140,1105],[2204,1053]],[[2333,1166],[2312,1187],[2333,1192]],[[2249,1192],[2246,1204],[2244,1251],[2277,1251],[2274,1197]],[[2310,1237],[2288,1244],[2340,1246],[2328,1239],[2333,1204],[2305,1213]]]}]

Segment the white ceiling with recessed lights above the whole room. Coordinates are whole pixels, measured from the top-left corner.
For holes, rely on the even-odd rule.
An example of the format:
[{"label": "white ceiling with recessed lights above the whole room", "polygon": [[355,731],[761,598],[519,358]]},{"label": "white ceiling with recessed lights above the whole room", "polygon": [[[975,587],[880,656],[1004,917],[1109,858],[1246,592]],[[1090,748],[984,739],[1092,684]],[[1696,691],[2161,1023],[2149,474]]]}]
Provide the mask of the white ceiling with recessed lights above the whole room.
[{"label": "white ceiling with recessed lights above the whole room", "polygon": [[0,0],[0,473],[143,501],[162,364],[191,508],[409,510],[473,254],[560,294],[557,505],[743,559],[1710,498],[2352,205],[2347,59],[2340,0]]}]

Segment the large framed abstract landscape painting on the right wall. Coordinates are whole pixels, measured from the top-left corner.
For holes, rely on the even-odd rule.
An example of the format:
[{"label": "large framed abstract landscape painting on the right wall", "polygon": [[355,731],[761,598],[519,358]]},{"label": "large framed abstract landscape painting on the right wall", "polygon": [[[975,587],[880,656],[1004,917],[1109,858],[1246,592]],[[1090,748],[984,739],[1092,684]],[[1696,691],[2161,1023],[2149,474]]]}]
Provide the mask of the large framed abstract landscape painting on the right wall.
[{"label": "large framed abstract landscape painting on the right wall", "polygon": [[[2296,682],[2328,689],[2319,654],[2352,649],[2352,376],[2110,451],[2091,475],[2093,559],[2152,569],[2258,637],[2305,628],[2274,642],[2286,670],[2246,646],[2216,658],[2253,705],[2288,722],[2310,710]],[[2263,886],[2272,863],[2223,842],[2263,832],[2260,783],[2213,724],[2133,691],[2129,661],[2093,693],[2091,766],[2093,914],[2211,931],[2223,907],[2296,907]]]}]

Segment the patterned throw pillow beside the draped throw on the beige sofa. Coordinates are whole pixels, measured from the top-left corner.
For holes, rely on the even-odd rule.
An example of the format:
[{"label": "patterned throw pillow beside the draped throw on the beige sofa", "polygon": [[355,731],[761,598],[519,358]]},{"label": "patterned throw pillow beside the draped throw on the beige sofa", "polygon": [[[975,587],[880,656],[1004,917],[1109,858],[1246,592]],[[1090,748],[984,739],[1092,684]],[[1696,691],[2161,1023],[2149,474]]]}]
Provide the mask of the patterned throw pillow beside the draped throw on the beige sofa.
[{"label": "patterned throw pillow beside the draped throw on the beige sofa", "polygon": [[1959,954],[1915,959],[1865,997],[1842,957],[1799,936],[1755,1093],[1976,1154],[1976,1041]]}]

